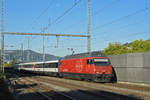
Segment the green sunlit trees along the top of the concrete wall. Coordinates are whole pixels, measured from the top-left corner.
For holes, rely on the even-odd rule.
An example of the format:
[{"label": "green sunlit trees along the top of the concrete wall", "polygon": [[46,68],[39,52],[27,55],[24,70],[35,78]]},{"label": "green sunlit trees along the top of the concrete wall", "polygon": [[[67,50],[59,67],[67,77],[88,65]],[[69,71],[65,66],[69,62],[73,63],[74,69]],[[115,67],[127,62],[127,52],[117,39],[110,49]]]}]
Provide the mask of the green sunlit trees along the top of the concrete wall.
[{"label": "green sunlit trees along the top of the concrete wall", "polygon": [[150,51],[150,40],[135,40],[131,43],[121,44],[118,42],[109,43],[102,52],[106,55],[117,55],[124,53],[147,52]]}]

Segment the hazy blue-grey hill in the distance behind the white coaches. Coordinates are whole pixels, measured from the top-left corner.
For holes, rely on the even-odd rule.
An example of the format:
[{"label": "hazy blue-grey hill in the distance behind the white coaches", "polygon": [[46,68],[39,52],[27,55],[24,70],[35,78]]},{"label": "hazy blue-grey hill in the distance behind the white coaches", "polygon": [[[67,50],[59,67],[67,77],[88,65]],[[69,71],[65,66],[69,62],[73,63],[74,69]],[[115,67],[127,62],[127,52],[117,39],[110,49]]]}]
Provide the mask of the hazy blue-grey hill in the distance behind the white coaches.
[{"label": "hazy blue-grey hill in the distance behind the white coaches", "polygon": [[[28,56],[28,54],[30,55]],[[5,61],[12,61],[15,59],[17,62],[22,62],[22,55],[24,62],[36,62],[43,60],[43,54],[32,50],[24,50],[23,52],[21,50],[5,50]],[[45,54],[45,61],[56,59],[59,59],[59,57],[51,54]]]}]

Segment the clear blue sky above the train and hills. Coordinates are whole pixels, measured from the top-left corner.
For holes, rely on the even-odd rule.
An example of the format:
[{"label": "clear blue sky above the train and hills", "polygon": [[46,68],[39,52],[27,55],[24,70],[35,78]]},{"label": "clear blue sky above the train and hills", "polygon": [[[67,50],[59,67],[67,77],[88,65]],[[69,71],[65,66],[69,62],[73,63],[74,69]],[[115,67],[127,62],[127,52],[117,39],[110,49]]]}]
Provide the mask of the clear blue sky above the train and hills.
[{"label": "clear blue sky above the train and hills", "polygon": [[[46,27],[46,33],[87,35],[87,1],[5,0],[5,31],[42,33]],[[103,50],[110,42],[150,38],[150,0],[90,1],[92,51]],[[28,39],[29,49],[42,53],[42,36],[5,35],[5,49],[21,49],[21,44],[28,49]],[[59,37],[58,48],[55,46],[56,37],[45,36],[45,52],[56,56],[70,55],[68,48],[87,52],[87,38]]]}]

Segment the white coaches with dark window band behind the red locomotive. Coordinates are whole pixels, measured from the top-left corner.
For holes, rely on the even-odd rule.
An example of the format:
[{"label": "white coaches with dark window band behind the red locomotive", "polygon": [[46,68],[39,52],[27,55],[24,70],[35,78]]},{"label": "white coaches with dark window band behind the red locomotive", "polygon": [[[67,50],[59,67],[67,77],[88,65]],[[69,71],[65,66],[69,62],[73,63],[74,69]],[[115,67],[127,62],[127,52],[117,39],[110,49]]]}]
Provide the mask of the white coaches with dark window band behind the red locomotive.
[{"label": "white coaches with dark window band behind the red locomotive", "polygon": [[23,72],[32,72],[37,74],[58,75],[58,60],[46,61],[46,62],[29,62],[16,64],[15,70]]}]

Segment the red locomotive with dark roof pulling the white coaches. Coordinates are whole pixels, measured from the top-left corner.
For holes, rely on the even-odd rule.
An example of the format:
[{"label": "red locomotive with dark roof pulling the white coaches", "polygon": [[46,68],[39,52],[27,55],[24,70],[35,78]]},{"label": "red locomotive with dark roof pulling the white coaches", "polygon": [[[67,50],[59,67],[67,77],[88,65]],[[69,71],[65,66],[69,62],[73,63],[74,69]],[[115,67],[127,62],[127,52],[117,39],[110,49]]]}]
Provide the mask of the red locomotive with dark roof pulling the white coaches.
[{"label": "red locomotive with dark roof pulling the white coaches", "polygon": [[59,74],[62,77],[97,82],[110,82],[113,77],[109,58],[91,53],[77,54],[61,59]]}]

